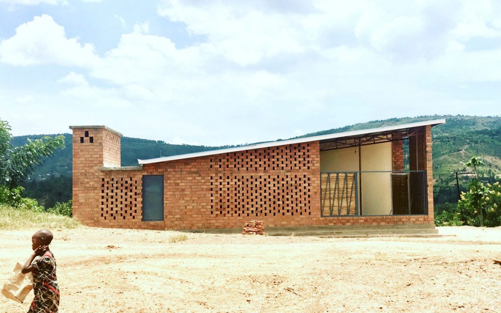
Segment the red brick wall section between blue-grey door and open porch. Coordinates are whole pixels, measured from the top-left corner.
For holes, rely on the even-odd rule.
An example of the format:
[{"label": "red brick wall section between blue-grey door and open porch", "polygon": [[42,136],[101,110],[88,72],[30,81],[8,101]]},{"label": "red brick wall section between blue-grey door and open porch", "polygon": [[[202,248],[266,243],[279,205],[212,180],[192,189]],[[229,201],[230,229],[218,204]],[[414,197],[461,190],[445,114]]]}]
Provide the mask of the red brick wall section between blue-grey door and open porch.
[{"label": "red brick wall section between blue-grey door and open porch", "polygon": [[146,164],[164,175],[165,227],[308,225],[319,214],[318,142]]}]

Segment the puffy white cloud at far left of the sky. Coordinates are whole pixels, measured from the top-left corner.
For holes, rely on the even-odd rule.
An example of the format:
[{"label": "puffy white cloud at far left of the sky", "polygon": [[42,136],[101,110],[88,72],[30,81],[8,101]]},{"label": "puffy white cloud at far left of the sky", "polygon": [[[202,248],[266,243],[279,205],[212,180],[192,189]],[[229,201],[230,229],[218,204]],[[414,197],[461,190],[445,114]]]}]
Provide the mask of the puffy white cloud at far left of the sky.
[{"label": "puffy white cloud at far left of the sky", "polygon": [[81,45],[75,38],[66,38],[64,28],[44,14],[19,26],[16,35],[0,42],[0,61],[22,66],[88,67],[98,62],[98,57],[93,45]]}]

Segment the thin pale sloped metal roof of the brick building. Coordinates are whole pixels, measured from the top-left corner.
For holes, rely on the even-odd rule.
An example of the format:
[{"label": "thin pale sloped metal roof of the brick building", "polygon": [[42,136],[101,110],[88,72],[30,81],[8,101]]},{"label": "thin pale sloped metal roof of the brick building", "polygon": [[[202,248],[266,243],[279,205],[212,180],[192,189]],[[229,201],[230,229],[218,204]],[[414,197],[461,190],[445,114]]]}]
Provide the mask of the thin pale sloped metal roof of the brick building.
[{"label": "thin pale sloped metal roof of the brick building", "polygon": [[355,130],[355,131],[349,131],[349,132],[343,132],[343,133],[334,133],[334,134],[328,134],[328,135],[311,136],[311,137],[303,137],[303,138],[280,140],[280,141],[271,141],[271,142],[265,142],[265,143],[260,143],[260,144],[255,144],[255,145],[247,145],[247,146],[241,146],[241,147],[235,147],[235,148],[226,148],[226,149],[208,150],[208,151],[195,152],[195,153],[178,154],[178,155],[172,155],[172,156],[168,156],[168,157],[161,157],[161,158],[154,158],[154,159],[146,159],[146,160],[139,160],[138,159],[137,161],[139,162],[139,164],[159,163],[159,162],[166,162],[166,161],[173,161],[173,160],[197,158],[197,157],[202,157],[202,156],[207,156],[207,155],[215,155],[215,154],[221,154],[221,153],[239,152],[239,151],[245,151],[245,150],[250,150],[250,149],[261,149],[261,148],[268,148],[268,147],[285,146],[285,145],[311,142],[311,141],[325,141],[325,140],[342,138],[342,137],[357,137],[357,136],[361,136],[361,135],[377,134],[377,133],[382,133],[382,132],[396,131],[396,130],[401,130],[401,129],[415,128],[415,127],[421,127],[421,126],[427,126],[427,125],[435,126],[435,125],[444,124],[444,123],[445,123],[445,119],[430,120],[430,121],[423,121],[423,122],[416,122],[416,123],[385,126],[385,127],[379,127],[379,128]]}]

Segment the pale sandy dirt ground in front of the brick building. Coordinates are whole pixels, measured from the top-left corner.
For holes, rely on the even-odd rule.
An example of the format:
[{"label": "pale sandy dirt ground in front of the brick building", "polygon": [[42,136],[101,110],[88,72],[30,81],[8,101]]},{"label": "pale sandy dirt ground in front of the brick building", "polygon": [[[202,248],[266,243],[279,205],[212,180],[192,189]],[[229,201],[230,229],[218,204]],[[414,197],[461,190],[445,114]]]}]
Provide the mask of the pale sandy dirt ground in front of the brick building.
[{"label": "pale sandy dirt ground in front of the brick building", "polygon": [[[318,238],[82,227],[54,231],[61,311],[501,312],[501,228],[440,238]],[[32,231],[0,233],[0,278]],[[0,298],[0,312],[26,312]]]}]

